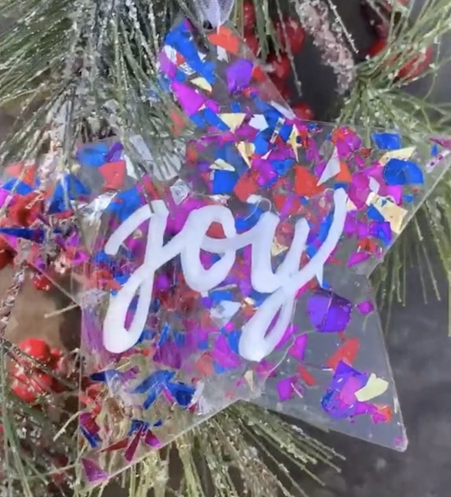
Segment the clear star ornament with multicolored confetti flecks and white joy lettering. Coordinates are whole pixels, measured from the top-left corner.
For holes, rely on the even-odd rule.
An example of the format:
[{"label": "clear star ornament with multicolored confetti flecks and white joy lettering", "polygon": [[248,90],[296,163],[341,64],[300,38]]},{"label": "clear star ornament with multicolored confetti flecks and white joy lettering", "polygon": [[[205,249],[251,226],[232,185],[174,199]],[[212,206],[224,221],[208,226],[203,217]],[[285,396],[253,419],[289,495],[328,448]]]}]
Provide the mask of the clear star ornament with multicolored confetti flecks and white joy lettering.
[{"label": "clear star ornament with multicolored confetti flecks and white joy lettering", "polygon": [[0,190],[3,236],[32,254],[52,241],[84,289],[88,484],[237,399],[403,450],[368,276],[449,166],[450,143],[296,119],[227,26],[205,40],[182,21],[160,63],[202,136],[178,178],[138,181],[113,141],[81,146],[77,174],[26,220],[15,206],[39,188],[28,166]]}]

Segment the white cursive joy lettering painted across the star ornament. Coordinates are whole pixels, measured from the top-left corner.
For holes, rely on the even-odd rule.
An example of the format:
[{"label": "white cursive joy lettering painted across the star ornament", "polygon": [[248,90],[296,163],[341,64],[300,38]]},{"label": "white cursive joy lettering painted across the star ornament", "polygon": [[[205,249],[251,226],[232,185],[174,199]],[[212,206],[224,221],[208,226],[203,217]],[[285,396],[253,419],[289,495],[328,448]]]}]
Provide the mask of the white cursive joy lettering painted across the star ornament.
[{"label": "white cursive joy lettering painted across the star ornament", "polygon": [[[300,256],[305,250],[309,226],[305,219],[296,221],[291,246],[275,272],[271,267],[271,245],[280,219],[272,212],[265,212],[253,228],[237,234],[234,217],[227,207],[205,206],[190,212],[183,229],[163,244],[169,215],[164,203],[153,202],[154,212],[148,205],[140,207],[117,228],[105,245],[107,254],[116,255],[119,246],[149,220],[142,265],[130,275],[117,294],[110,297],[103,328],[106,349],[120,354],[136,344],[152,302],[155,272],[168,261],[180,255],[186,283],[193,290],[206,292],[226,279],[235,263],[236,251],[250,245],[251,284],[256,291],[270,295],[242,327],[238,351],[244,359],[261,361],[274,350],[289,326],[299,288],[315,276],[322,275],[323,266],[343,232],[346,201],[345,190],[335,190],[334,216],[329,233],[316,254],[301,269]],[[212,222],[220,223],[226,238],[215,239],[206,235]],[[205,269],[200,259],[201,250],[217,254],[220,259]],[[138,291],[137,308],[127,330],[126,315]],[[275,316],[278,316],[275,325],[268,332]]]}]

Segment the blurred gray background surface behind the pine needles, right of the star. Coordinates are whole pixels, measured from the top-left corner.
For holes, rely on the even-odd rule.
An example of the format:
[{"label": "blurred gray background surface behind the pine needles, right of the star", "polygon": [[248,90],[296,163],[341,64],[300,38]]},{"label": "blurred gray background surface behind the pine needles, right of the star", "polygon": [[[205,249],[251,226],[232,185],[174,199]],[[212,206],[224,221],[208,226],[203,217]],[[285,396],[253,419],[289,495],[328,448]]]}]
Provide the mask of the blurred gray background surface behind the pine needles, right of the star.
[{"label": "blurred gray background surface behind the pine needles, right of the star", "polygon": [[[419,5],[422,0],[417,0]],[[358,1],[335,0],[344,17],[352,19]],[[360,30],[362,32],[362,30]],[[451,35],[442,40],[440,56],[451,57]],[[427,93],[431,78],[411,85]],[[451,99],[451,64],[439,70],[431,99]],[[451,135],[451,129],[450,129]],[[425,240],[433,246],[432,240]],[[342,474],[319,471],[327,488],[304,482],[311,497],[447,497],[451,495],[451,338],[448,338],[448,285],[435,251],[435,274],[441,294],[438,302],[429,286],[429,304],[423,302],[419,270],[408,277],[406,307],[394,305],[387,347],[400,406],[409,437],[405,453],[390,451],[341,434],[312,432],[346,456]]]}]

